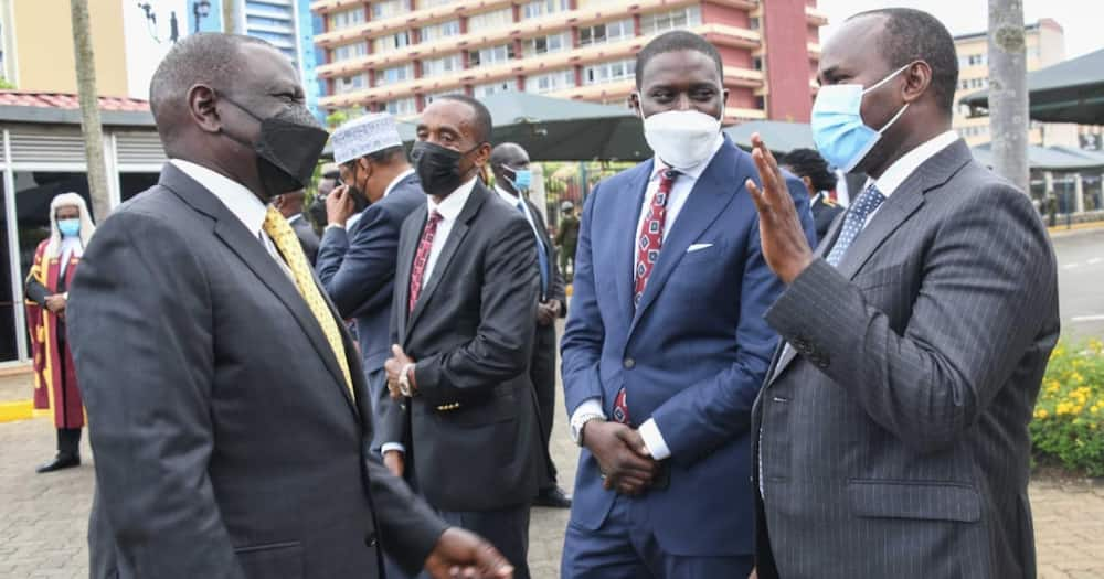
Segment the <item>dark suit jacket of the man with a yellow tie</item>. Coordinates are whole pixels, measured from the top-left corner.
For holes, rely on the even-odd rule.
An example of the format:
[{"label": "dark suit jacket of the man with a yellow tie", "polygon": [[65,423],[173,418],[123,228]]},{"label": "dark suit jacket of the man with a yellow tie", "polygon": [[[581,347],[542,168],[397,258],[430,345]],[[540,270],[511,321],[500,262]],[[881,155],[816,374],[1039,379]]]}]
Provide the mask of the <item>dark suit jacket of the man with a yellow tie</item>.
[{"label": "dark suit jacket of the man with a yellow tie", "polygon": [[[445,525],[367,451],[355,397],[291,279],[171,164],[96,232],[70,291],[96,455],[94,577],[378,577]],[[332,308],[331,308],[332,310]]]}]

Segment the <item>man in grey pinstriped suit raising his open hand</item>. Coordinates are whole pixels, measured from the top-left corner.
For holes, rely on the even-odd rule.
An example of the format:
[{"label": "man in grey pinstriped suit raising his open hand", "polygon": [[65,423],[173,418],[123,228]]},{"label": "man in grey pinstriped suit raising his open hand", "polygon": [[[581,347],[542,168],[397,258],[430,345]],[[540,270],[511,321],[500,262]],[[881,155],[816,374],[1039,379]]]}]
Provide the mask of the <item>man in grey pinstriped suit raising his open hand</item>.
[{"label": "man in grey pinstriped suit raising his open hand", "polygon": [[763,254],[788,286],[753,411],[760,577],[1034,577],[1027,427],[1055,260],[1027,195],[949,130],[957,73],[916,10],[825,45],[817,147],[870,180],[816,251],[753,137]]}]

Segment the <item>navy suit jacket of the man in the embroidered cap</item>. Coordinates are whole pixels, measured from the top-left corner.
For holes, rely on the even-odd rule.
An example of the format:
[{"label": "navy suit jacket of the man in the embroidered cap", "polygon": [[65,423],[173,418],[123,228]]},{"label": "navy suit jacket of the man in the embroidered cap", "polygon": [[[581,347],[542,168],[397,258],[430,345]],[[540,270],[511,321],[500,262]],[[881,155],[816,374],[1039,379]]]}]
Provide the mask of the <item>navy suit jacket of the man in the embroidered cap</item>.
[{"label": "navy suit jacket of the man in the embroidered cap", "polygon": [[406,216],[425,203],[422,183],[410,174],[388,196],[369,205],[351,232],[330,227],[322,236],[318,278],[341,315],[357,319],[357,337],[368,372],[382,368],[391,350],[389,325],[399,232]]}]

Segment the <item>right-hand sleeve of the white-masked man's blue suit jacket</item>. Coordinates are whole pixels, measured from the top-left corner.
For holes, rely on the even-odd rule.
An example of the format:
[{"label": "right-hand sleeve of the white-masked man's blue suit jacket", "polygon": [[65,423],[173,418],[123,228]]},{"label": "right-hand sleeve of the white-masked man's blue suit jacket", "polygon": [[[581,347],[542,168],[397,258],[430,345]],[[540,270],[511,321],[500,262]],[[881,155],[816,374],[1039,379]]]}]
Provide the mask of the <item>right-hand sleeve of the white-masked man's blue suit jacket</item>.
[{"label": "right-hand sleeve of the white-masked man's blue suit jacket", "polygon": [[[757,180],[756,180],[757,181]],[[806,239],[816,240],[809,196],[805,185],[787,178]],[[656,421],[671,460],[690,465],[751,427],[751,411],[766,377],[778,336],[763,314],[782,293],[783,283],[766,265],[758,232],[758,216],[749,228],[744,271],[739,288],[740,321],[735,362],[721,373],[690,385],[659,406]],[[692,361],[688,361],[692,363]]]}]

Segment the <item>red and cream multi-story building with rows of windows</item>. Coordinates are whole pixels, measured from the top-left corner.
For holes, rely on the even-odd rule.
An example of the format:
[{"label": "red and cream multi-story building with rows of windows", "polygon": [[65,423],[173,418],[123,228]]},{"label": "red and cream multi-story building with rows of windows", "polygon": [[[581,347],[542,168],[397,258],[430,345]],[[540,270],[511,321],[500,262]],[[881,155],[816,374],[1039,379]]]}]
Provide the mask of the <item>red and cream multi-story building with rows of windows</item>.
[{"label": "red and cream multi-story building with rows of windows", "polygon": [[[524,90],[625,103],[636,53],[672,29],[721,53],[726,124],[807,121],[816,0],[315,0],[319,106],[413,115],[434,97]],[[321,61],[322,58],[320,58]]]}]

